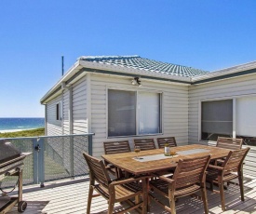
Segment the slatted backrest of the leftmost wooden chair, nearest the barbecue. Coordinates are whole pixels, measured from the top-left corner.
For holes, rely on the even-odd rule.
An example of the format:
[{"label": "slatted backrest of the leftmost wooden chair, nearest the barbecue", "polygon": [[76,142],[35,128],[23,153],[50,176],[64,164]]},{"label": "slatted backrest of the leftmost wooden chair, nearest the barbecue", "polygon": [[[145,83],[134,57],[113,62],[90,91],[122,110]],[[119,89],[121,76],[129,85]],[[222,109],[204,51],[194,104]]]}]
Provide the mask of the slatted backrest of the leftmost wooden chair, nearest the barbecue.
[{"label": "slatted backrest of the leftmost wooden chair, nearest the barbecue", "polygon": [[83,153],[89,168],[90,181],[97,181],[100,185],[108,189],[109,183],[111,181],[107,170],[105,169],[102,160],[99,160],[89,154]]}]

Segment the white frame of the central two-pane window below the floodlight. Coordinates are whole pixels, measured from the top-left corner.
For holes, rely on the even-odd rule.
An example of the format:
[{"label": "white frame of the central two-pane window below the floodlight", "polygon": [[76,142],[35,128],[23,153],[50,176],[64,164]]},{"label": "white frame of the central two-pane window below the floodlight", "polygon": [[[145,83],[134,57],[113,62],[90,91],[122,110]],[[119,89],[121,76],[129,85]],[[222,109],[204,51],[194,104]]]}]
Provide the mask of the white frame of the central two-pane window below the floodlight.
[{"label": "white frame of the central two-pane window below the floodlight", "polygon": [[[127,136],[109,136],[108,134],[108,126],[109,126],[109,115],[108,115],[108,95],[109,90],[123,90],[123,91],[132,91],[135,92],[135,103],[136,103],[136,119],[135,119],[135,126],[136,126],[136,134],[135,135],[127,135]],[[150,92],[159,95],[159,125],[160,125],[160,132],[153,133],[153,134],[139,134],[139,109],[138,109],[138,93],[140,92]],[[155,136],[155,135],[162,135],[163,134],[163,96],[164,92],[159,90],[146,90],[146,89],[136,89],[136,88],[122,88],[122,87],[106,87],[106,135],[107,139],[113,138],[129,138],[129,137],[140,137],[140,136]]]}]

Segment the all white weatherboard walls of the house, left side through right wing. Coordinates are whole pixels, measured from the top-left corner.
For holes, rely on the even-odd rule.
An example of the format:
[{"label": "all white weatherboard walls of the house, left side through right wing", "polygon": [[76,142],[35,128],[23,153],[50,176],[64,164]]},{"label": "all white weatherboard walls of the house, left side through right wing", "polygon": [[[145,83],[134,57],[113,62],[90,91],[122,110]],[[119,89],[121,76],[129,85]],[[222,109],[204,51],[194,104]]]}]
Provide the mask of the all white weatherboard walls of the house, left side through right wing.
[{"label": "all white weatherboard walls of the house, left side through right wing", "polygon": [[[256,95],[256,74],[220,80],[195,86],[181,86],[170,83],[155,83],[141,79],[142,87],[132,86],[131,78],[88,74],[63,94],[47,103],[47,135],[93,132],[93,155],[101,157],[103,141],[129,140],[134,138],[154,138],[174,136],[178,145],[215,142],[199,140],[200,101],[223,100]],[[127,138],[107,137],[107,89],[152,91],[162,93],[162,134],[131,136]],[[70,91],[72,109],[70,109]],[[62,100],[63,119],[56,120],[56,104]],[[70,111],[72,111],[70,113]],[[70,127],[70,114],[73,115]],[[62,126],[63,123],[63,127]],[[155,140],[156,142],[156,140]],[[246,159],[245,171],[256,175],[256,149],[251,147]]]}]

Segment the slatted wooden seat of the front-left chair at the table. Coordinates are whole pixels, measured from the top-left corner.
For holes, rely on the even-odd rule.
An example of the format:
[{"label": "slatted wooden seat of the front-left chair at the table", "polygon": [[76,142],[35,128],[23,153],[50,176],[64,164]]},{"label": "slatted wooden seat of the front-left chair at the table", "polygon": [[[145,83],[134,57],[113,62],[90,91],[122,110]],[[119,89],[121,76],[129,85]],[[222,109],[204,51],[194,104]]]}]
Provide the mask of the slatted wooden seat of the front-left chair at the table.
[{"label": "slatted wooden seat of the front-left chair at the table", "polygon": [[[105,199],[109,200],[108,189],[101,185],[95,185],[95,190]],[[141,185],[137,182],[129,182],[126,184],[115,185],[115,202],[124,201],[127,198],[134,197],[137,194],[142,194]]]}]

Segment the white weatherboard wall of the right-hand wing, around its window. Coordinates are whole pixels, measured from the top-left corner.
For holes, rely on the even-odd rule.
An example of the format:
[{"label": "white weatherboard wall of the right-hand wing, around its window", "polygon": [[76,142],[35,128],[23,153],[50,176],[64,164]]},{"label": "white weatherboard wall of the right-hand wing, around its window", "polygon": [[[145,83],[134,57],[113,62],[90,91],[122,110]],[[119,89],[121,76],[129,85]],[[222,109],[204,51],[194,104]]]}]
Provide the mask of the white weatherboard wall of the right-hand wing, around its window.
[{"label": "white weatherboard wall of the right-hand wing, around its window", "polygon": [[[215,142],[199,139],[201,124],[200,101],[233,99],[249,95],[256,95],[256,74],[189,87],[189,143],[215,144]],[[255,164],[256,150],[251,147],[246,158],[245,171],[256,175]]]}]

